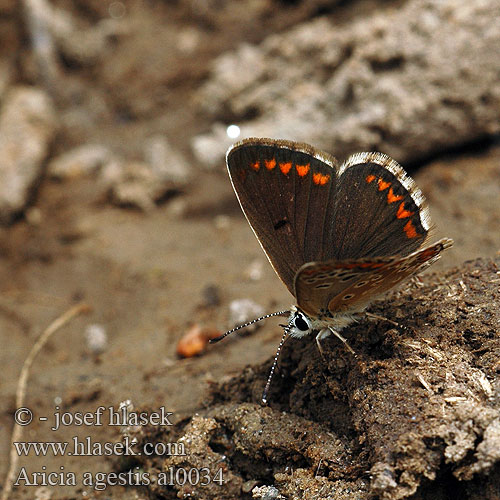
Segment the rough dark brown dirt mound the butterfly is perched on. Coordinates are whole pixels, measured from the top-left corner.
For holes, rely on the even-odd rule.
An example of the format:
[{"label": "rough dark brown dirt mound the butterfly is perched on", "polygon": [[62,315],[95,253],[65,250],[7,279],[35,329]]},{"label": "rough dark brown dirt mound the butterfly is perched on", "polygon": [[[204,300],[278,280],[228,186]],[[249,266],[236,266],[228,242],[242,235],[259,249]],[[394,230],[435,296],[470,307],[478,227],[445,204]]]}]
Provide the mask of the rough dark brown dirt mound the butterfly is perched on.
[{"label": "rough dark brown dirt mound the butterfly is perched on", "polygon": [[208,467],[212,477],[221,469],[225,481],[155,485],[154,492],[498,498],[499,263],[467,262],[379,302],[371,311],[399,326],[362,319],[347,329],[356,356],[334,338],[324,341],[324,359],[314,342],[290,339],[270,407],[258,402],[272,360],[214,386],[206,408],[168,432],[143,429],[140,439],[187,449],[140,462],[152,475]]}]

